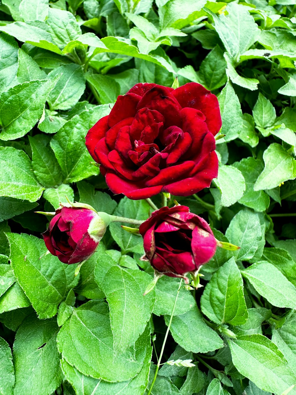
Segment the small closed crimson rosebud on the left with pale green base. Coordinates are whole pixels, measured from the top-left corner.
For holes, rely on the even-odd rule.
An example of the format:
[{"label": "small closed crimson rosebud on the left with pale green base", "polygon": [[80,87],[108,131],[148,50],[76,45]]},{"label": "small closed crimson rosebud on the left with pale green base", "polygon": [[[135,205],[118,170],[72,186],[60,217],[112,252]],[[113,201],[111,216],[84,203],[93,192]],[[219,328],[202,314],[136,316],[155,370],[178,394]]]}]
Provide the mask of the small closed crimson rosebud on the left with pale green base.
[{"label": "small closed crimson rosebud on the left with pale green base", "polygon": [[108,214],[97,213],[91,206],[63,206],[49,223],[43,239],[52,255],[64,263],[78,263],[95,251],[109,225]]}]

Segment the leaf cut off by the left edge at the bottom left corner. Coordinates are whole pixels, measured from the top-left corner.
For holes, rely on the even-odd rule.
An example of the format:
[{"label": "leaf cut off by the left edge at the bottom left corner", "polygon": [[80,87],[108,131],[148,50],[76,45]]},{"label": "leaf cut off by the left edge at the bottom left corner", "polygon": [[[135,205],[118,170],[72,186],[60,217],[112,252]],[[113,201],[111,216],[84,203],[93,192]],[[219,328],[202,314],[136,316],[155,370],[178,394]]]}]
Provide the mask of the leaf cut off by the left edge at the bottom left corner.
[{"label": "leaf cut off by the left edge at the bottom left corner", "polygon": [[0,394],[12,395],[15,383],[12,355],[9,344],[0,337]]}]

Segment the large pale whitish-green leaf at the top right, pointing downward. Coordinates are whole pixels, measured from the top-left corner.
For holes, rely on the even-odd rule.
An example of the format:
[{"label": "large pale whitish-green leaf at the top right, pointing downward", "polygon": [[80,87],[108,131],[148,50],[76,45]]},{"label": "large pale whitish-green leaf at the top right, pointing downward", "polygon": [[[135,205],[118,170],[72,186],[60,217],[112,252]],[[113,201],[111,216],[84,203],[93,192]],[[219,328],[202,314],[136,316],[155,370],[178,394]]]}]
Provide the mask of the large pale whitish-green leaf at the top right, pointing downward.
[{"label": "large pale whitish-green leaf at the top right, pointing downward", "polygon": [[237,60],[259,36],[260,30],[248,9],[236,3],[227,4],[228,15],[221,13],[219,17],[211,13],[215,30],[219,34],[226,51]]}]

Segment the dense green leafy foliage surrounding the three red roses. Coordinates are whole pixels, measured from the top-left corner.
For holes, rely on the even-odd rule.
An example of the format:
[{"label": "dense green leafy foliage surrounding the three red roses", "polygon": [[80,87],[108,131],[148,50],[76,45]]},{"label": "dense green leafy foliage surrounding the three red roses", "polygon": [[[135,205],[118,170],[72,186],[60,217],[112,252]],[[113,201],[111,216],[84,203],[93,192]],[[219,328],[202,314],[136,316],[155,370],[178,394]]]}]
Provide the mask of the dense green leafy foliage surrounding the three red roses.
[{"label": "dense green leafy foliage surrounding the three red roses", "polygon": [[241,248],[217,250],[205,288],[181,289],[163,362],[196,366],[163,365],[152,393],[296,384],[295,12],[295,0],[2,1],[0,394],[145,392],[150,333],[159,354],[178,280],[143,298],[142,239],[114,223],[74,278],[76,265],[39,260],[48,220],[34,211],[66,195],[146,219],[146,201],[109,193],[84,137],[119,94],[176,75],[218,96],[225,134],[218,179],[177,200]]}]

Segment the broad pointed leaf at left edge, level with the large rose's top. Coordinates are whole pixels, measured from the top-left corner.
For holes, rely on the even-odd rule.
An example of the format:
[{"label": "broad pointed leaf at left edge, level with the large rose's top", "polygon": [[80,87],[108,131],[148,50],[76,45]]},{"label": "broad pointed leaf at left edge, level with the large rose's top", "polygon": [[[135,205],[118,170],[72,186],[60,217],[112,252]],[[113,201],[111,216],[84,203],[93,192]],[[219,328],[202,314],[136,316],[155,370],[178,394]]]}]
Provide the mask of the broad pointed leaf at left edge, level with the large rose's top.
[{"label": "broad pointed leaf at left edge, level with the large rose's top", "polygon": [[2,140],[14,140],[29,132],[40,119],[55,81],[30,81],[0,95]]}]

